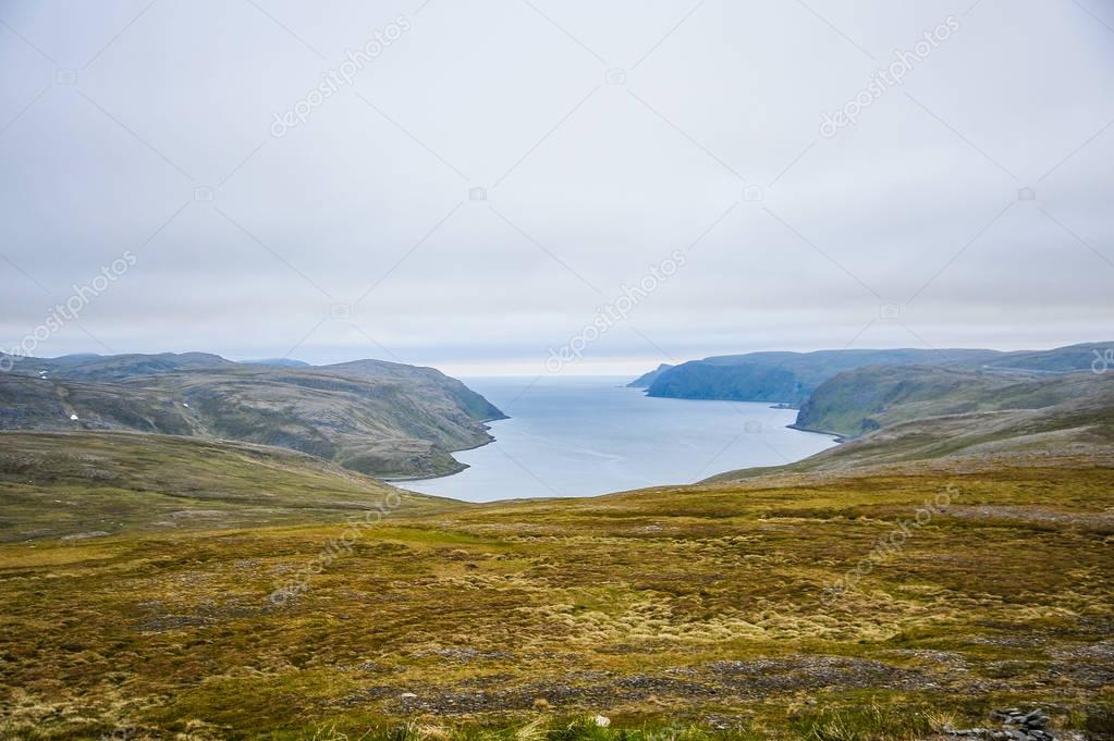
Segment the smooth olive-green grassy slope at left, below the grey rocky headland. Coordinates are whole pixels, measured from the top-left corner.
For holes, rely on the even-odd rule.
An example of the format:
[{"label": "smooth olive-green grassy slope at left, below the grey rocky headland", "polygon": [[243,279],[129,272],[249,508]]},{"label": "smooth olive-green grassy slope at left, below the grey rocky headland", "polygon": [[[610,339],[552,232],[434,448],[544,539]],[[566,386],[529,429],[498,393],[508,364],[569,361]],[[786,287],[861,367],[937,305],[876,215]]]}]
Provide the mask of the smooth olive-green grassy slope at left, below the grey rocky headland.
[{"label": "smooth olive-green grassy slope at left, below the grey rocky headland", "polygon": [[[398,500],[395,500],[398,497]],[[137,433],[0,433],[0,542],[340,522],[450,508],[292,451]]]}]

